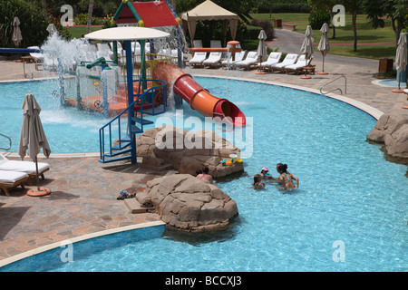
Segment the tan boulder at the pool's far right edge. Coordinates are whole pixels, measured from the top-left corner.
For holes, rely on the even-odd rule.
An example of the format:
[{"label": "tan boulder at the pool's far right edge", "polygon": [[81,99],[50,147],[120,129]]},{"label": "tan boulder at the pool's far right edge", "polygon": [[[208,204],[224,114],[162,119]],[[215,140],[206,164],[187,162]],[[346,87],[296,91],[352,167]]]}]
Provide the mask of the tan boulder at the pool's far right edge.
[{"label": "tan boulder at the pool's far right edge", "polygon": [[367,140],[384,143],[390,156],[408,159],[408,116],[398,111],[384,113]]}]

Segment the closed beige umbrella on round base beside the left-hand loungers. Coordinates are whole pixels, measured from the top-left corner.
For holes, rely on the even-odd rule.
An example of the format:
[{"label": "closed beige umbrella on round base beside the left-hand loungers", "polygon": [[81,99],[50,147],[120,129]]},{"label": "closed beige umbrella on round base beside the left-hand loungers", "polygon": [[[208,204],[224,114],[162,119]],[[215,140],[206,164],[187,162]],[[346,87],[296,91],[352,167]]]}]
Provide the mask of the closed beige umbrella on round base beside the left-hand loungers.
[{"label": "closed beige umbrella on round base beside the left-hand loungers", "polygon": [[35,162],[37,189],[30,189],[27,194],[29,196],[44,196],[49,194],[50,189],[40,188],[38,182],[38,161],[37,155],[43,148],[43,153],[46,158],[50,157],[50,146],[43,129],[43,124],[40,120],[40,105],[36,102],[33,93],[27,93],[23,102],[23,124],[21,127],[20,143],[18,144],[18,154],[24,160],[26,150],[28,155]]}]

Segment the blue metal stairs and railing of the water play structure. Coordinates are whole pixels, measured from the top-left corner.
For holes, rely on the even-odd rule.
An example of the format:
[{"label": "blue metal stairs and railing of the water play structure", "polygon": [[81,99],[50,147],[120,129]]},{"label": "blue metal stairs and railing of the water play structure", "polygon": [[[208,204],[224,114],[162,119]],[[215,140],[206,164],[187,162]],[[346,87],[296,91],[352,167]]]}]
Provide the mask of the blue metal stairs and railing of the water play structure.
[{"label": "blue metal stairs and railing of the water play structure", "polygon": [[[131,104],[124,110],[121,111],[120,114],[118,114],[115,118],[113,118],[111,121],[106,123],[102,128],[99,130],[99,139],[100,139],[100,161],[102,163],[106,162],[105,160],[106,157],[114,157],[116,155],[121,155],[125,152],[133,150],[133,153],[136,154],[136,148],[130,148],[127,151],[123,151],[123,149],[127,149],[129,146],[131,146],[131,138],[132,135],[136,133],[141,133],[143,132],[143,124],[147,123],[152,123],[151,121],[145,121],[144,115],[156,115],[162,112],[167,111],[167,82],[161,81],[161,80],[143,80],[141,82],[157,82],[157,83],[162,83],[157,86],[151,86],[148,90],[141,94],[135,94],[136,100],[134,102],[131,102]],[[139,83],[139,87],[141,87],[141,82]],[[140,91],[138,91],[140,92]],[[162,93],[162,95],[160,95]],[[157,103],[157,99],[162,98],[162,105]],[[143,102],[144,101],[144,102]],[[156,102],[155,102],[156,101]],[[149,109],[143,108],[146,105],[150,105]],[[136,110],[134,110],[134,107],[136,107]],[[160,107],[160,108],[159,108]],[[159,110],[160,109],[160,110]],[[121,116],[123,116],[126,112],[128,114],[131,114],[131,118],[127,119],[121,119]],[[140,113],[140,117],[135,117],[135,113]],[[121,121],[127,120],[127,132],[126,135],[122,133],[122,125]],[[132,120],[131,123],[129,123],[129,120]],[[115,131],[117,131],[117,140],[118,140],[118,145],[112,146],[112,140],[116,140],[116,138],[113,138],[112,136],[112,126],[115,126],[115,122],[117,121],[117,128]],[[138,123],[138,126],[136,126],[136,123]],[[139,125],[140,124],[140,125]],[[108,131],[108,132],[106,132]],[[107,142],[105,140],[105,133],[109,134],[109,151],[105,152],[105,143]],[[116,137],[116,134],[115,134]],[[128,137],[128,138],[126,138]],[[132,147],[132,146],[131,146]],[[125,159],[130,159],[131,157],[121,157],[116,160],[125,160]]]}]

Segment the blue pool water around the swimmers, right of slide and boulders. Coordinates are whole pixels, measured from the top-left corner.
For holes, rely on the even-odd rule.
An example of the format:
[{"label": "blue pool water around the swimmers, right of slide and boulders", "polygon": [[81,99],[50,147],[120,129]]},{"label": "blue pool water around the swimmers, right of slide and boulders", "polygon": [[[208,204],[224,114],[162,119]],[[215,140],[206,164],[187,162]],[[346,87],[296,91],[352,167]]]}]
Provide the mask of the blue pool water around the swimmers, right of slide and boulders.
[{"label": "blue pool water around the swimmers, right of slide and boulders", "polygon": [[[248,189],[252,179],[245,175],[219,180],[219,188],[238,204],[239,216],[226,231],[197,235],[161,229],[161,236],[151,239],[135,238],[138,232],[130,238],[112,235],[74,245],[72,263],[58,263],[62,249],[56,248],[0,270],[408,270],[407,168],[385,161],[380,148],[365,141],[373,117],[310,92],[197,80],[253,118],[253,125],[238,129],[253,131],[246,172],[267,166],[277,176],[276,164],[287,163],[300,179],[298,190],[282,194],[275,184]],[[198,116],[185,109],[185,116]],[[90,253],[84,244],[98,251]]]}]

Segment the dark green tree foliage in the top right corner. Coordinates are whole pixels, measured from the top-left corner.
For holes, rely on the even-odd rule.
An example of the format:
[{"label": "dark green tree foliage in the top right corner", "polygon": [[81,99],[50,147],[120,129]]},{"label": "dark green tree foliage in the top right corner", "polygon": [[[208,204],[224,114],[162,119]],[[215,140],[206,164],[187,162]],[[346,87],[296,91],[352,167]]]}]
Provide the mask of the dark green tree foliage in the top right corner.
[{"label": "dark green tree foliage in the top right corner", "polygon": [[397,43],[403,28],[408,27],[408,0],[364,0],[364,8],[375,29],[384,27],[382,17],[391,19]]}]

